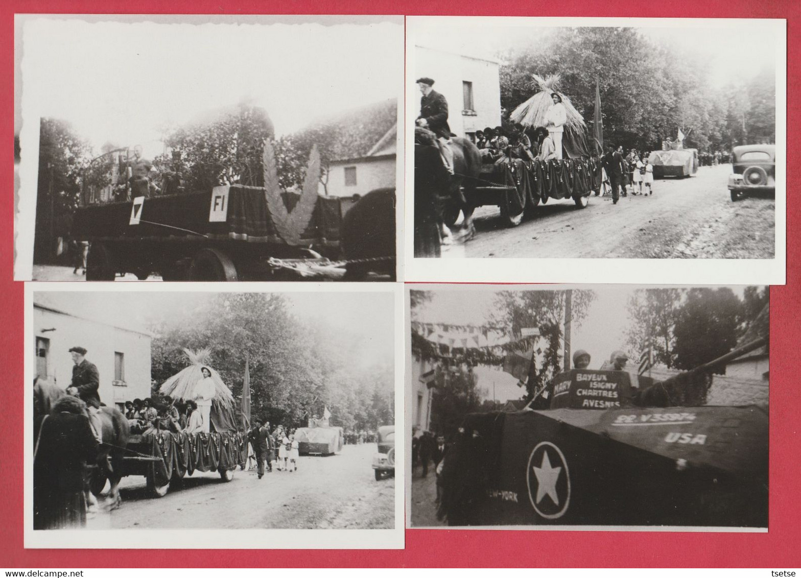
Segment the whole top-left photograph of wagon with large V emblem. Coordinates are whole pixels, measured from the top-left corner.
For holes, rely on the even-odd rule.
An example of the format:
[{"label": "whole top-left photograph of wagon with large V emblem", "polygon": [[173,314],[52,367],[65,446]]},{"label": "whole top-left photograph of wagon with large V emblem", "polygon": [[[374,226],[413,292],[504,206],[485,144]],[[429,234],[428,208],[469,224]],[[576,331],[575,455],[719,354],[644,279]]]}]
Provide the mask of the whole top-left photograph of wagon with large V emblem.
[{"label": "whole top-left photograph of wagon with large V emblem", "polygon": [[15,279],[396,279],[402,17],[16,24]]}]

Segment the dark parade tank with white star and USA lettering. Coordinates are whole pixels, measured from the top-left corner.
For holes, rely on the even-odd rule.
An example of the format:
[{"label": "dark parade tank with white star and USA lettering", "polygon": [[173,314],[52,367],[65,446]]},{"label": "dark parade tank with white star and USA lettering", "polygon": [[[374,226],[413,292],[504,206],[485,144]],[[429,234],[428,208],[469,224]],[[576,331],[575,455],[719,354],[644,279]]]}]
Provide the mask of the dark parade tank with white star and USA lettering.
[{"label": "dark parade tank with white star and USA lettering", "polygon": [[767,405],[705,405],[710,371],[765,343],[659,383],[564,371],[523,411],[468,415],[442,465],[438,516],[453,526],[767,528]]}]

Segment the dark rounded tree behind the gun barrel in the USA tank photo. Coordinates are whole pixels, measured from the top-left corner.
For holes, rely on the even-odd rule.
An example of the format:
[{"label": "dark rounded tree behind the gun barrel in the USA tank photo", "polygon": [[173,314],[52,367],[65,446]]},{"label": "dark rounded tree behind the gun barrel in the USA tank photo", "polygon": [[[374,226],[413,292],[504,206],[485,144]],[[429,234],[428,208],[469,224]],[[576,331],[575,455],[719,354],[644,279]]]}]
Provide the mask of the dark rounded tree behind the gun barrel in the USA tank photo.
[{"label": "dark rounded tree behind the gun barrel in the USA tank photo", "polygon": [[734,349],[741,311],[740,300],[728,287],[687,291],[674,327],[675,367],[692,369]]}]

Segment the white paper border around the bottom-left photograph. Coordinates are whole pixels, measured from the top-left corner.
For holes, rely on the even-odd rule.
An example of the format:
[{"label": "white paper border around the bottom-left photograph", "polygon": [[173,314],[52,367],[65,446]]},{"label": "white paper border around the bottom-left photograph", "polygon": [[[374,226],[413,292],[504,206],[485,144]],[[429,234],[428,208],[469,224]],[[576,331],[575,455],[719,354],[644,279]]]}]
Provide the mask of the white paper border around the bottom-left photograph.
[{"label": "white paper border around the bottom-left photograph", "polygon": [[[404,327],[403,286],[400,283],[25,283],[25,343],[34,343],[34,293],[44,292],[198,292],[198,293],[388,293],[394,307],[395,428],[404,429],[404,340],[398,331]],[[24,379],[26,391],[34,380],[33,347],[25,347]],[[33,399],[25,395],[24,423],[33,422]],[[394,528],[388,529],[156,529],[143,530],[34,530],[33,528],[33,431],[24,433],[23,528],[25,548],[169,548],[169,549],[341,549],[405,548],[403,468],[395,470]],[[395,452],[405,462],[405,437],[396,436]],[[365,472],[365,476],[371,476]],[[268,545],[268,546],[267,546]]]}]

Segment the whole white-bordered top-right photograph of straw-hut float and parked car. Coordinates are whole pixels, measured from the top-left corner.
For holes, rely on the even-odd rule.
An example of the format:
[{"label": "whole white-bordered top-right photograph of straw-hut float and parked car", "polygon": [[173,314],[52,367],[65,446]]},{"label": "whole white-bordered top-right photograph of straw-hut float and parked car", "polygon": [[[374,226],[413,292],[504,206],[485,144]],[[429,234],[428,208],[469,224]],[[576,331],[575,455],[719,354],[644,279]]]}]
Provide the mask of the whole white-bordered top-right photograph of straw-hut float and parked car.
[{"label": "whole white-bordered top-right photograph of straw-hut float and parked car", "polygon": [[[783,21],[410,17],[407,37],[407,279],[565,282],[572,259],[582,283],[731,282],[748,259],[745,282],[783,283]],[[603,278],[617,259],[639,267]]]}]

